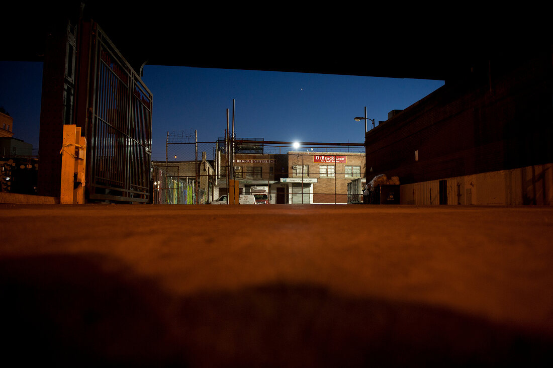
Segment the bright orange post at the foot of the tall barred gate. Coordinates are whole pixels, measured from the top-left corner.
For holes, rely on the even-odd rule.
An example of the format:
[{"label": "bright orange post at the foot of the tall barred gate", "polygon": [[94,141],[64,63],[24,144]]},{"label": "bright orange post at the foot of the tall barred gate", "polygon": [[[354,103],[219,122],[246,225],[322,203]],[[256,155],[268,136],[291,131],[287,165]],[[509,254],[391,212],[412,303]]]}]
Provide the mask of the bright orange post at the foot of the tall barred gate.
[{"label": "bright orange post at the foot of the tall barred gate", "polygon": [[84,204],[86,138],[81,137],[81,128],[64,125],[60,154],[60,204]]}]

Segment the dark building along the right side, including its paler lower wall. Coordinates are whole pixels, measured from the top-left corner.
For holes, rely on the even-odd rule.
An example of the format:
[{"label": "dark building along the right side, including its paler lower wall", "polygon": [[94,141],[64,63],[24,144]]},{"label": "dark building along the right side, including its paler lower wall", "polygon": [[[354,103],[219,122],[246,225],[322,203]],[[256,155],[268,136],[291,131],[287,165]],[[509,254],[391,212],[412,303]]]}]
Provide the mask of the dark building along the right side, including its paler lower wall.
[{"label": "dark building along the right side, including its paler lower wall", "polygon": [[402,204],[553,204],[551,50],[475,65],[366,133]]}]

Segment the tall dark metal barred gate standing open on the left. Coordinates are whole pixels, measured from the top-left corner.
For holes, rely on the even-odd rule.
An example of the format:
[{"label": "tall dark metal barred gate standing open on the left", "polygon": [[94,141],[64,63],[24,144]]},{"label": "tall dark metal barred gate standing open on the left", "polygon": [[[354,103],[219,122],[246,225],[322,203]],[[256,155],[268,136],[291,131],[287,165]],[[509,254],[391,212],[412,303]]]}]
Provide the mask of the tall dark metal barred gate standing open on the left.
[{"label": "tall dark metal barred gate standing open on the left", "polygon": [[100,28],[95,40],[88,198],[147,203],[152,93]]}]

